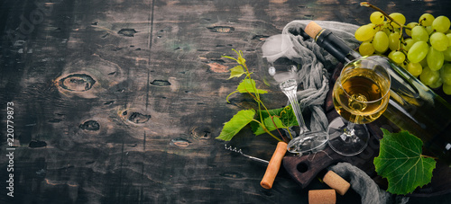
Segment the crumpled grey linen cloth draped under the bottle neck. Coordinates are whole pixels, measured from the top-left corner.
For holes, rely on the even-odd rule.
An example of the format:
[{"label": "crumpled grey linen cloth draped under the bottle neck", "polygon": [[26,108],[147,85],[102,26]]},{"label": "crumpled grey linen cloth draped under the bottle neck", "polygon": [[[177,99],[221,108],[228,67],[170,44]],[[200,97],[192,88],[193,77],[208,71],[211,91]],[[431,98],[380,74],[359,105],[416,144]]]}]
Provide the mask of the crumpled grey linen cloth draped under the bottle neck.
[{"label": "crumpled grey linen cloth draped under the bottle neck", "polygon": [[[311,130],[327,129],[327,117],[322,105],[326,101],[328,80],[338,62],[327,51],[321,49],[313,39],[301,34],[308,22],[310,21],[293,21],[285,26],[282,34],[290,35],[293,44],[293,49],[285,55],[302,65],[298,71],[298,82],[303,85],[303,90],[298,92],[298,100],[304,109],[308,108],[311,111],[309,128]],[[357,25],[344,22],[316,22],[322,28],[332,31],[337,37],[345,40],[351,48],[357,48],[360,44],[354,38]],[[351,188],[360,194],[362,203],[391,204],[409,201],[408,197],[395,196],[383,191],[364,171],[354,165],[340,163],[331,166],[330,169],[351,183]]]}]

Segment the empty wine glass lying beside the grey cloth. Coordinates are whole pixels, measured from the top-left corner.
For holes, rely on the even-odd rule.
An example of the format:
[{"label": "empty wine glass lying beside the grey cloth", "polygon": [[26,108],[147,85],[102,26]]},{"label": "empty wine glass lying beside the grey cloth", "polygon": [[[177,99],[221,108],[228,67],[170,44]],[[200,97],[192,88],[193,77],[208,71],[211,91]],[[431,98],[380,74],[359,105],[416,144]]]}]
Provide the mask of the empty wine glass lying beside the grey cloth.
[{"label": "empty wine glass lying beside the grey cloth", "polygon": [[290,140],[287,150],[290,153],[302,154],[317,152],[327,145],[327,132],[309,131],[302,117],[297,99],[298,68],[300,64],[291,59],[293,45],[290,36],[286,34],[274,35],[257,46],[257,75],[264,84],[279,89],[291,104],[299,123],[299,136]]}]

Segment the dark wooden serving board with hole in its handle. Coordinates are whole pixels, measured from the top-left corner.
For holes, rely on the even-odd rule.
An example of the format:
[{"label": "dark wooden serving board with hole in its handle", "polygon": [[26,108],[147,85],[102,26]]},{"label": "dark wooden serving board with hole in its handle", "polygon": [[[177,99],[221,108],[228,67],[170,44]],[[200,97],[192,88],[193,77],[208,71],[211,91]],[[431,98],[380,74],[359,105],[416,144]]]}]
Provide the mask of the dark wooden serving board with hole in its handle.
[{"label": "dark wooden serving board with hole in its handle", "polygon": [[[334,74],[332,75],[332,80],[330,80],[330,89],[327,93],[326,111],[327,119],[329,122],[339,117],[338,113],[335,111],[332,102],[332,86],[335,83],[336,77],[339,75],[339,71],[342,66],[336,67]],[[439,93],[440,94],[440,93]],[[368,146],[359,155],[345,156],[339,155],[329,146],[326,146],[324,151],[318,152],[312,155],[286,155],[283,158],[283,166],[290,176],[299,183],[302,188],[306,188],[308,184],[313,181],[318,173],[325,170],[328,166],[332,164],[337,164],[340,162],[347,162],[357,166],[373,178],[382,189],[387,189],[387,181],[379,176],[375,172],[373,158],[379,155],[379,140],[382,139],[382,126],[391,127],[392,129],[397,129],[390,121],[385,118],[380,118],[374,122],[367,124],[367,129],[370,131],[370,141]],[[446,194],[451,192],[451,167],[446,164],[442,164],[437,161],[436,169],[433,171],[432,181],[419,188],[410,196],[414,197],[429,197],[441,194]]]}]

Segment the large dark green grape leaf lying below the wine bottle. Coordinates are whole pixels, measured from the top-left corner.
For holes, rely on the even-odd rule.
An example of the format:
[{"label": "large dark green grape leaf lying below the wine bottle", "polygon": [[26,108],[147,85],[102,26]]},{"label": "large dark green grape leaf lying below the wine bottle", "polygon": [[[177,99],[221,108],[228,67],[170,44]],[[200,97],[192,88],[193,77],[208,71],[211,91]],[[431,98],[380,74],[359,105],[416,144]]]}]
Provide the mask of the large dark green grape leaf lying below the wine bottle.
[{"label": "large dark green grape leaf lying below the wine bottle", "polygon": [[404,195],[428,184],[436,161],[421,155],[423,142],[407,131],[382,132],[380,153],[373,163],[376,173],[389,182],[387,191]]}]

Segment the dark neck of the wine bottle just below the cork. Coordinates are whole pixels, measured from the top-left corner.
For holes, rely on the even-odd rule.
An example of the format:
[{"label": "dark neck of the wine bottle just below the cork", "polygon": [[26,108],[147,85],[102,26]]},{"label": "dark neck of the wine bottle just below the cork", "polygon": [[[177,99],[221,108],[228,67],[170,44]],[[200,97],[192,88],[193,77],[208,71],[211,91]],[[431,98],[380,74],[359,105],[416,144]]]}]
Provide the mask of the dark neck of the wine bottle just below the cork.
[{"label": "dark neck of the wine bottle just below the cork", "polygon": [[331,31],[325,29],[320,31],[315,40],[319,47],[326,49],[328,53],[343,64],[356,58],[362,58],[358,52],[349,48],[343,40],[337,38]]}]

